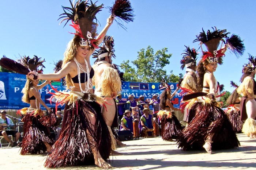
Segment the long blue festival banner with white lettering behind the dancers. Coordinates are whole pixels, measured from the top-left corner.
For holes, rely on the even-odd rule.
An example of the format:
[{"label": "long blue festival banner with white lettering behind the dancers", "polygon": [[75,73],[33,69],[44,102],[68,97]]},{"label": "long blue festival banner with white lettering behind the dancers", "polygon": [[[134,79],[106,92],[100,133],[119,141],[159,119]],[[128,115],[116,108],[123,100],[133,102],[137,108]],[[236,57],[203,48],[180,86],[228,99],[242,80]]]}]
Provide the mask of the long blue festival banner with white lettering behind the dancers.
[{"label": "long blue festival banner with white lettering behind the dancers", "polygon": [[[25,84],[25,75],[0,72],[0,109],[22,109],[24,107],[29,107],[29,104],[23,103],[21,100],[23,96],[21,91]],[[173,91],[177,87],[177,83],[169,83],[169,85]],[[53,81],[52,86],[57,88],[59,91],[67,91],[62,79]],[[155,93],[160,96],[163,91],[160,89],[160,83],[123,82],[121,94],[123,95],[124,101],[127,100],[130,94],[133,94],[135,98],[139,98],[140,95],[143,95],[145,100],[149,102]],[[52,105],[50,104],[50,97],[52,95],[48,93],[48,90],[54,93],[54,90],[50,85],[46,85],[44,88],[39,90],[41,98],[48,107],[55,107],[54,100],[52,100]],[[179,93],[176,93],[176,96],[172,98],[172,103],[175,108],[179,108],[181,98],[182,97]],[[41,106],[41,108],[45,109],[43,106]],[[64,106],[61,108],[63,109]]]}]

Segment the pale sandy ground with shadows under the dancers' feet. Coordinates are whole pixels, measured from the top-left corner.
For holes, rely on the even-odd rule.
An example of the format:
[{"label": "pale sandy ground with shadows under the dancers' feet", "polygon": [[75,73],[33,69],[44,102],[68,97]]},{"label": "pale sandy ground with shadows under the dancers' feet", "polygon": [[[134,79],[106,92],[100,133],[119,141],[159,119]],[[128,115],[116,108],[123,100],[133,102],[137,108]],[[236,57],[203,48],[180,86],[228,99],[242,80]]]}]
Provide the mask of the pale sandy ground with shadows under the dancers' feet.
[{"label": "pale sandy ground with shadows under the dancers' feet", "polygon": [[[241,146],[236,149],[206,151],[181,151],[175,142],[163,141],[161,137],[123,142],[125,147],[117,149],[121,156],[110,157],[112,169],[153,170],[153,169],[255,169],[256,139],[237,134]],[[20,148],[0,149],[1,169],[37,170],[46,169],[43,165],[47,154],[19,155]],[[75,166],[58,170],[100,169],[96,166]]]}]

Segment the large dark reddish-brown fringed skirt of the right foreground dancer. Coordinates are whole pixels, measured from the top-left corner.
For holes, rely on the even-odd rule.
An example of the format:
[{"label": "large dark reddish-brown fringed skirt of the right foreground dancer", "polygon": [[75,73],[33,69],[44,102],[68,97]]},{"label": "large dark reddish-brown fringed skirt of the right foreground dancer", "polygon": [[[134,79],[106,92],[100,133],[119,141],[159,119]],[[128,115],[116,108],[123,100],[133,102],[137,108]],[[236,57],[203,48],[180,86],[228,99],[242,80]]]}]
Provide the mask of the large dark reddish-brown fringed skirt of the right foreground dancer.
[{"label": "large dark reddish-brown fringed skirt of the right foreground dancer", "polygon": [[[208,135],[212,137],[212,150],[236,148],[240,145],[225,112],[213,103],[193,104],[190,112],[195,115],[177,139],[181,150],[202,150]],[[189,112],[189,114],[190,114]]]}]

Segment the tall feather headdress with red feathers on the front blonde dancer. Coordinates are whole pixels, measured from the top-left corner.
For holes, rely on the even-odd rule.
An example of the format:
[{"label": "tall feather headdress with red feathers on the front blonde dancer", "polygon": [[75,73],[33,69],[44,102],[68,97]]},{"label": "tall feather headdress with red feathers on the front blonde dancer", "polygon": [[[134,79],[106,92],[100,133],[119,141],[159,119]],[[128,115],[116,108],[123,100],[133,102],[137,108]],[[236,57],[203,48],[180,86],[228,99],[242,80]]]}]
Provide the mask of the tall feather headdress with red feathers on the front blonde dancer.
[{"label": "tall feather headdress with red feathers on the front blonde dancer", "polygon": [[64,13],[60,15],[61,17],[59,19],[64,19],[62,19],[60,23],[66,21],[66,25],[68,21],[71,20],[72,24],[70,26],[76,30],[74,33],[75,43],[80,46],[97,48],[96,42],[98,39],[96,39],[96,31],[98,24],[95,23],[94,20],[97,22],[96,14],[101,11],[103,4],[97,6],[92,1],[88,3],[88,1],[82,0],[78,0],[75,4],[72,4],[71,0],[69,0],[69,2],[71,7],[62,7]]}]

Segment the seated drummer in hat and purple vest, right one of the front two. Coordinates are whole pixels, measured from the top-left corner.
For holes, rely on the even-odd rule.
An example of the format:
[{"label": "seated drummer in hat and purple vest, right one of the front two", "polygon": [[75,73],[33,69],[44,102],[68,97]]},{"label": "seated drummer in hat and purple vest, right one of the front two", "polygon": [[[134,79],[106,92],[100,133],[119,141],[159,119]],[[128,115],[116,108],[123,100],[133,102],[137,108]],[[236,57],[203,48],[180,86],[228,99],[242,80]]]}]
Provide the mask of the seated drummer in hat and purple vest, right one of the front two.
[{"label": "seated drummer in hat and purple vest, right one of the front two", "polygon": [[[140,133],[142,134],[142,136],[145,135],[145,131],[146,129],[153,129],[153,116],[149,114],[150,109],[148,108],[144,108],[142,110],[143,115],[140,118]],[[148,134],[148,135],[152,135],[152,134]]]}]

